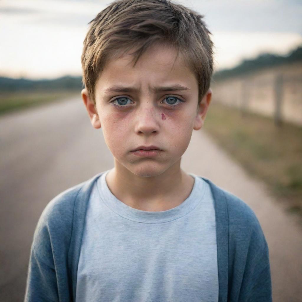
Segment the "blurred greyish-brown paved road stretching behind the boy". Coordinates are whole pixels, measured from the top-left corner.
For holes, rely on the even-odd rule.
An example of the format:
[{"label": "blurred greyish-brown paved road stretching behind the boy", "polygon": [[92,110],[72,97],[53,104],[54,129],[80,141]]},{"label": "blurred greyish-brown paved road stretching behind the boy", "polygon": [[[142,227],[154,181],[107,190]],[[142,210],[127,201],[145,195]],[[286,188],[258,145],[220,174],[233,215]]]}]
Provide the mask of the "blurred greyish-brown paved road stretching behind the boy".
[{"label": "blurred greyish-brown paved road stretching behind the boy", "polygon": [[[80,99],[2,116],[0,154],[0,301],[22,301],[42,210],[61,191],[113,167],[113,159]],[[193,132],[182,167],[252,207],[268,240],[274,302],[300,301],[301,229],[265,186],[246,175],[204,131]]]}]

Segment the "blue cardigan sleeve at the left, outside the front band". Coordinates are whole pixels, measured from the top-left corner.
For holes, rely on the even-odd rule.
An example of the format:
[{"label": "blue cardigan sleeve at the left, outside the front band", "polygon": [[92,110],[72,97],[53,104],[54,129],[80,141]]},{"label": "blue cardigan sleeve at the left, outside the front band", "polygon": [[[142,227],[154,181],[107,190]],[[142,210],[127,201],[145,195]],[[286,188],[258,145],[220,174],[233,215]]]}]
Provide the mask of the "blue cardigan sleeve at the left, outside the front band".
[{"label": "blue cardigan sleeve at the left, outside the front band", "polygon": [[68,252],[79,187],[56,196],[37,223],[27,271],[24,302],[72,300]]}]

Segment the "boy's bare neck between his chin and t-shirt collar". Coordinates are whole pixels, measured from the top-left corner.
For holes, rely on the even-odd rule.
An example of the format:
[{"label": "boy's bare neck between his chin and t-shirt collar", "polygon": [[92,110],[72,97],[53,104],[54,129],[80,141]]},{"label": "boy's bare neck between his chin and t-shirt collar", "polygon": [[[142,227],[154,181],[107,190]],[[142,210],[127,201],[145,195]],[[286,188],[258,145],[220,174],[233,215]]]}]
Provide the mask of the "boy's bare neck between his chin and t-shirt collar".
[{"label": "boy's bare neck between his chin and t-shirt collar", "polygon": [[127,204],[143,211],[165,211],[177,207],[190,195],[194,178],[180,169],[180,160],[161,175],[137,176],[115,163],[106,175],[112,194]]}]

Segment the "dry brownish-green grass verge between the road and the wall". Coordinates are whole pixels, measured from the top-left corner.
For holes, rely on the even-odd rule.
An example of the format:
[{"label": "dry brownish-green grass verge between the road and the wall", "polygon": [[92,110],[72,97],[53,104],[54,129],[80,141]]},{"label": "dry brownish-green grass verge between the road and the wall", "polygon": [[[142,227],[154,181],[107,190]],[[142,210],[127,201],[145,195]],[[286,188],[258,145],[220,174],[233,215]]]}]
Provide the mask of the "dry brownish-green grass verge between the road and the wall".
[{"label": "dry brownish-green grass verge between the road and the wall", "polygon": [[289,212],[302,216],[302,127],[211,103],[204,129],[248,172],[268,184]]}]

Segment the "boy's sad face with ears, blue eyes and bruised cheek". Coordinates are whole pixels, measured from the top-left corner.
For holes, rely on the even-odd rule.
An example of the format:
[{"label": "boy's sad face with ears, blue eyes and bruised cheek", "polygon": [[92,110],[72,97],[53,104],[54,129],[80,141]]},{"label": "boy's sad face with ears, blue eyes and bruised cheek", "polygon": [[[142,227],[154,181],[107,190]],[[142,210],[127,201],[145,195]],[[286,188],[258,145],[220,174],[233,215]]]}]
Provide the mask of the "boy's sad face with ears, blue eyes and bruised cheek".
[{"label": "boy's sad face with ears, blue eyes and bruised cheek", "polygon": [[[102,128],[116,169],[156,176],[180,165],[193,129],[202,127],[211,91],[198,106],[198,82],[174,49],[156,46],[133,67],[131,55],[112,59],[95,85],[95,107],[82,98],[93,127]],[[156,146],[156,151],[136,151]],[[125,170],[125,168],[127,170]]]}]

